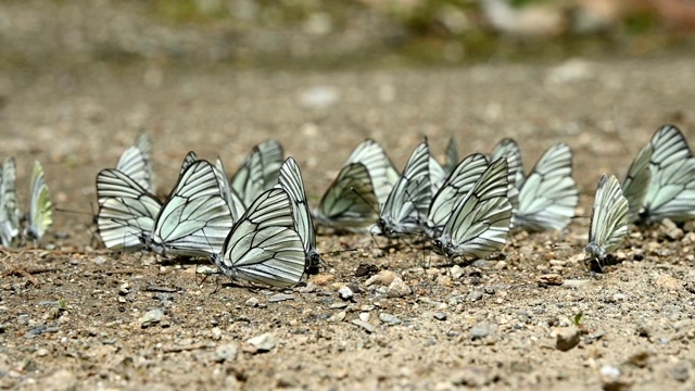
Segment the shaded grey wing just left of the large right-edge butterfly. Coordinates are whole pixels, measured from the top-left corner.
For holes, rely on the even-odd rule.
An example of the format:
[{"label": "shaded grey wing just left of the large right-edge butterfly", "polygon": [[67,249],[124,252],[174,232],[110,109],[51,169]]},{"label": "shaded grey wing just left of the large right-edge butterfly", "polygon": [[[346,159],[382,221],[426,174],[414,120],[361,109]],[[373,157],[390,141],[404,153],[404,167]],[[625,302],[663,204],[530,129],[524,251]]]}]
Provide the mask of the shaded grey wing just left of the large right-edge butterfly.
[{"label": "shaded grey wing just left of the large right-edge butterfly", "polygon": [[644,146],[632,161],[626,180],[622,182],[622,193],[628,199],[630,210],[628,211],[628,220],[635,222],[640,218],[642,202],[649,189],[652,172],[649,171],[649,161],[654,147],[652,143]]}]

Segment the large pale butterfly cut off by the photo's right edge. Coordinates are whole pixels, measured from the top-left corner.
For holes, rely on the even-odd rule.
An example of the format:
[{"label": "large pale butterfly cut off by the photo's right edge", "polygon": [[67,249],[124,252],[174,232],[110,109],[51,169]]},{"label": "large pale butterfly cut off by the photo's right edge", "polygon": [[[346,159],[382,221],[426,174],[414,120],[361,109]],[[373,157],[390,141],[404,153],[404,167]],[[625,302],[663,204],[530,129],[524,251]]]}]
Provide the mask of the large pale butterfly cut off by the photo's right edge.
[{"label": "large pale butterfly cut off by the photo's right edge", "polygon": [[642,201],[640,223],[695,218],[695,157],[683,134],[672,125],[657,129],[650,141],[652,178]]}]

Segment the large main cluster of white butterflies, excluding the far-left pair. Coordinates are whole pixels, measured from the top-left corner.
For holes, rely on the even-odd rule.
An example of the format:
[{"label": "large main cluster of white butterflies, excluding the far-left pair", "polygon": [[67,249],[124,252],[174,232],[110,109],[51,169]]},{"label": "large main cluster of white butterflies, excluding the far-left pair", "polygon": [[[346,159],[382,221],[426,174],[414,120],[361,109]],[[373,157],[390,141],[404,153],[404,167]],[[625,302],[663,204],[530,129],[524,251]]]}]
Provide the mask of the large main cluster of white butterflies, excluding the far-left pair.
[{"label": "large main cluster of white butterflies, excluding the far-left pair", "polygon": [[[468,260],[502,251],[511,229],[564,229],[579,202],[572,152],[561,142],[527,176],[511,139],[490,155],[460,161],[450,142],[444,164],[424,141],[402,174],[367,139],[313,211],[296,162],[283,160],[275,140],[254,147],[231,177],[222,160],[213,164],[189,152],[164,202],[154,195],[151,152],[141,134],[116,168],[97,176],[97,224],[106,248],[208,257],[232,279],[275,287],[295,285],[318,268],[314,219],[337,231],[426,238],[437,252]],[[673,126],[658,129],[622,186],[602,178],[587,260],[602,264],[620,245],[628,222],[695,218],[694,178],[695,157],[682,134]]]}]

